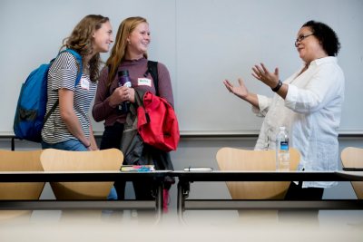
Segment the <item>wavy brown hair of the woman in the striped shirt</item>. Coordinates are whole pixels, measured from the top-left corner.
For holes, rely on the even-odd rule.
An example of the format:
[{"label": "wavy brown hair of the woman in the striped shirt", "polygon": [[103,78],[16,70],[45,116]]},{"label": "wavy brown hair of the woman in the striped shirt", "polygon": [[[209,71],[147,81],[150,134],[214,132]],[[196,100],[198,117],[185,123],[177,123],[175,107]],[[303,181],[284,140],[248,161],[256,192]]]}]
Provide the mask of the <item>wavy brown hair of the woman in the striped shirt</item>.
[{"label": "wavy brown hair of the woman in the striped shirt", "polygon": [[[63,40],[61,50],[64,47],[71,48],[77,53],[80,53],[82,57],[93,53],[93,33],[100,29],[102,24],[109,21],[109,18],[104,17],[103,15],[86,15],[77,25],[75,25],[72,34]],[[94,54],[89,62],[90,79],[93,82],[96,82],[99,78],[101,63],[100,53]],[[83,62],[83,66],[85,66],[85,64],[86,63]],[[83,66],[80,66],[80,68],[83,68]]]}]

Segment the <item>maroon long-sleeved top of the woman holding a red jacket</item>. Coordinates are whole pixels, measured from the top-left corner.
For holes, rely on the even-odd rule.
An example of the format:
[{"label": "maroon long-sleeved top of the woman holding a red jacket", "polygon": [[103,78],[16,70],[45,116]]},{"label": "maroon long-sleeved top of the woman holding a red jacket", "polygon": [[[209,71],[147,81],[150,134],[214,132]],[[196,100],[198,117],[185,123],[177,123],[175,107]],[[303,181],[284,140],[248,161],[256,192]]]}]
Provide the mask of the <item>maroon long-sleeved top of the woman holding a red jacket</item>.
[{"label": "maroon long-sleeved top of the woman holding a red jacket", "polygon": [[[145,58],[136,61],[124,61],[119,66],[117,72],[128,70],[132,82],[132,88],[140,89],[144,92],[149,91],[155,94],[156,92],[153,81],[152,86],[138,85],[138,78],[145,78],[144,73],[147,71],[147,62],[148,60]],[[159,95],[174,106],[170,74],[166,66],[162,63],[158,63],[158,77]],[[112,126],[116,121],[124,123],[126,120],[126,114],[120,114],[120,112],[117,111],[117,108],[113,108],[109,104],[110,95],[113,93],[113,90],[118,87],[117,74],[109,88],[107,87],[107,78],[108,68],[105,66],[101,71],[100,80],[98,82],[92,114],[94,121],[104,121],[104,126]],[[146,78],[152,80],[152,75],[148,73]]]}]

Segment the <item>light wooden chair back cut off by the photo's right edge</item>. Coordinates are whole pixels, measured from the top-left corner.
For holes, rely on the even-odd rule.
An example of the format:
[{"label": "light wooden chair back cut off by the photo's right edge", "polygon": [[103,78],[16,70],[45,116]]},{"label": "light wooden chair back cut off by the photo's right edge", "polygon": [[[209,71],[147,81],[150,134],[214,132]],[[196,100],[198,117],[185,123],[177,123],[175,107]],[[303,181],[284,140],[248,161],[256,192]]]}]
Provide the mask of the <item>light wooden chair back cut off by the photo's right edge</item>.
[{"label": "light wooden chair back cut off by the photo's right edge", "polygon": [[[341,151],[341,163],[346,168],[363,168],[363,148],[347,147]],[[363,199],[363,181],[351,182],[358,199]]]}]

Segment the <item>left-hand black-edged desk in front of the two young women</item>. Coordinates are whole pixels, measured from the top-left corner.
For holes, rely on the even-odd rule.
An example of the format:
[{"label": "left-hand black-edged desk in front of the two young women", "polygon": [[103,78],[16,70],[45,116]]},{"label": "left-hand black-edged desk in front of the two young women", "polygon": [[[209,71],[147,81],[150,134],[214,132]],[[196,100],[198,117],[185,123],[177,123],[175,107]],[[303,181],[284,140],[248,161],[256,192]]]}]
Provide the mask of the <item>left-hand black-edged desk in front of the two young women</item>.
[{"label": "left-hand black-edged desk in front of the two young women", "polygon": [[154,209],[162,217],[163,179],[169,171],[17,171],[0,172],[0,182],[53,181],[114,181],[152,178],[157,187],[155,200],[0,200],[0,210],[58,210],[58,209]]}]

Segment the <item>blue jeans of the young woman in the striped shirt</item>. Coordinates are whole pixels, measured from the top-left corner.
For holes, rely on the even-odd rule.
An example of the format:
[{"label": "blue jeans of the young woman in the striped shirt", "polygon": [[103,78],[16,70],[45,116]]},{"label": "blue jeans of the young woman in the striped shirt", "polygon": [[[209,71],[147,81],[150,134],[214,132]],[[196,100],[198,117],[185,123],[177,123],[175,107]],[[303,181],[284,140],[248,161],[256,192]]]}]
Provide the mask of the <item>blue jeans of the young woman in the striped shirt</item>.
[{"label": "blue jeans of the young woman in the striped shirt", "polygon": [[[65,140],[62,142],[49,144],[42,141],[42,149],[56,149],[56,150],[74,150],[74,151],[87,151],[88,149],[83,145],[80,140]],[[117,200],[117,193],[114,187],[111,189],[107,199]]]}]

